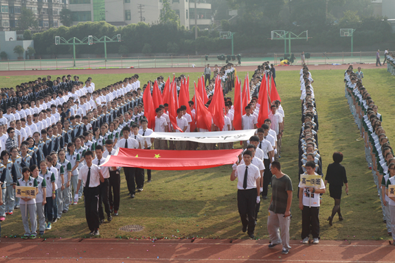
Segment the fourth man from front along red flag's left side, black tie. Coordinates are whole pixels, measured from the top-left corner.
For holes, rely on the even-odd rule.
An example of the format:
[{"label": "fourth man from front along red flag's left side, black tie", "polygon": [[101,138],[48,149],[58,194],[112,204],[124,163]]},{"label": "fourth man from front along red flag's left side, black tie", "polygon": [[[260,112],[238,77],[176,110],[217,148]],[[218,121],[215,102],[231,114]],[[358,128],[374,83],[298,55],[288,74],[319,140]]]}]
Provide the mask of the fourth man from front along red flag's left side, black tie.
[{"label": "fourth man from front along red flag's left side, black tie", "polygon": [[[131,133],[131,128],[129,128],[128,126],[125,126],[124,128],[122,128],[122,135],[124,136],[124,138],[120,140],[120,142],[118,143],[118,146],[120,146],[120,148],[128,148],[128,149],[139,148],[139,143],[138,143],[137,139],[133,139],[132,137],[129,137],[129,133]],[[138,171],[138,168],[124,167],[124,174],[125,174],[125,178],[126,178],[126,183],[128,185],[128,191],[129,191],[131,198],[135,198],[135,194],[136,194],[135,181],[138,181],[138,179],[136,179],[135,177],[139,176],[137,174],[137,171]],[[137,185],[137,186],[140,186],[140,185]]]}]

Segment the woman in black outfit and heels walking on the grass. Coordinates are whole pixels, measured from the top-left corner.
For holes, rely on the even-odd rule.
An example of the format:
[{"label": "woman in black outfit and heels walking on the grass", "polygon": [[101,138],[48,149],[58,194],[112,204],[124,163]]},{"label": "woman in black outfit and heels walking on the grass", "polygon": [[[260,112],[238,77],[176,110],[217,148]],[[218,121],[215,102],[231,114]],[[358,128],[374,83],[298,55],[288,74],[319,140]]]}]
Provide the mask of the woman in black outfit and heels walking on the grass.
[{"label": "woman in black outfit and heels walking on the grass", "polygon": [[332,158],[333,163],[328,165],[325,176],[325,186],[326,183],[329,183],[330,197],[335,199],[332,216],[328,218],[330,226],[332,226],[332,220],[336,213],[339,214],[339,221],[343,220],[340,212],[341,187],[343,187],[343,183],[346,185],[346,193],[348,194],[346,169],[340,164],[343,161],[343,154],[341,152],[334,152]]}]

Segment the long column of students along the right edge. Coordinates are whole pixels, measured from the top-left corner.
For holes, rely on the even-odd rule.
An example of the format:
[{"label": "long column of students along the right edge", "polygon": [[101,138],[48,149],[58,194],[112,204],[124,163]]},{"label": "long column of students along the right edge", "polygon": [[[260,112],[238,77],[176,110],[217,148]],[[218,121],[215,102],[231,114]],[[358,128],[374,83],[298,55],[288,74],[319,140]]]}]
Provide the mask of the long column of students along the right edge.
[{"label": "long column of students along the right edge", "polygon": [[[390,56],[387,58],[391,63]],[[395,198],[388,196],[388,186],[395,185],[395,158],[390,141],[381,126],[383,117],[352,66],[344,73],[344,82],[350,111],[365,141],[365,159],[368,168],[372,170],[377,195],[381,201],[383,222],[386,224],[388,236],[392,236],[395,241]]]}]

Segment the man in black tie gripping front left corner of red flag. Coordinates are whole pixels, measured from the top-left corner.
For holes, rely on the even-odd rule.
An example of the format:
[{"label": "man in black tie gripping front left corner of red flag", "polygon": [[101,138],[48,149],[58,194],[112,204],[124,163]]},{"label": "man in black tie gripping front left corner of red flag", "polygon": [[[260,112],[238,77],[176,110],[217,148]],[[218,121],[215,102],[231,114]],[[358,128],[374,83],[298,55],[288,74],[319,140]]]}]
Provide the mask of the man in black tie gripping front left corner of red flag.
[{"label": "man in black tie gripping front left corner of red flag", "polygon": [[[101,168],[98,165],[92,163],[93,152],[90,150],[85,152],[84,155],[86,165],[82,166],[80,173],[78,174],[78,186],[76,196],[78,200],[78,190],[80,190],[81,181],[84,183],[84,201],[85,201],[85,217],[92,236],[99,236],[99,192],[100,182],[104,182]],[[105,169],[105,167],[104,167]]]}]

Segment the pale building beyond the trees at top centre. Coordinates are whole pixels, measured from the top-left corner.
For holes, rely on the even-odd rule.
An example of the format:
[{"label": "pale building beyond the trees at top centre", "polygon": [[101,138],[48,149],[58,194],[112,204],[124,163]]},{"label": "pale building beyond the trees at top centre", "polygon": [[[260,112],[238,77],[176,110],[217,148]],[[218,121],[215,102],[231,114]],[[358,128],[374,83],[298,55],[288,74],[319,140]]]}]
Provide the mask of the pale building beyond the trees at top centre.
[{"label": "pale building beyond the trees at top centre", "polygon": [[[194,0],[170,0],[172,9],[179,15],[180,25],[194,27]],[[144,21],[157,23],[162,0],[70,0],[69,9],[73,12],[74,25],[87,21],[106,21],[115,26]],[[211,3],[196,0],[197,25],[201,29],[212,24]]]}]

